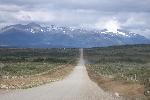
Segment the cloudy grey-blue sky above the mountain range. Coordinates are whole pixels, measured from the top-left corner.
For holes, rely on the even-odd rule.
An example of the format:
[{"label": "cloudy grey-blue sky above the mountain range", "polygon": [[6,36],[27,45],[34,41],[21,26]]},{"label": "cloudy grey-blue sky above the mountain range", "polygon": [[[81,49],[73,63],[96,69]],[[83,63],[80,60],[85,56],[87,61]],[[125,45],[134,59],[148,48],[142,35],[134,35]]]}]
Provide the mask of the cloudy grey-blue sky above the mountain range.
[{"label": "cloudy grey-blue sky above the mountain range", "polygon": [[116,31],[150,38],[150,0],[0,0],[0,27],[36,22]]}]

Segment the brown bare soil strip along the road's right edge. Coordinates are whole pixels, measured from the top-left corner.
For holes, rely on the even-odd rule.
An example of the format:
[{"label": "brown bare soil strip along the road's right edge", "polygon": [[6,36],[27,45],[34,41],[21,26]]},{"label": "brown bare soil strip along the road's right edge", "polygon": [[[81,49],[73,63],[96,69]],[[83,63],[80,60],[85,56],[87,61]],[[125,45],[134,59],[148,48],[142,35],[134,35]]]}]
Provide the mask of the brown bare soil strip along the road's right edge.
[{"label": "brown bare soil strip along the road's right edge", "polygon": [[92,81],[96,82],[103,90],[123,96],[127,100],[146,100],[144,96],[144,86],[139,83],[114,80],[94,73],[87,67],[88,75]]}]

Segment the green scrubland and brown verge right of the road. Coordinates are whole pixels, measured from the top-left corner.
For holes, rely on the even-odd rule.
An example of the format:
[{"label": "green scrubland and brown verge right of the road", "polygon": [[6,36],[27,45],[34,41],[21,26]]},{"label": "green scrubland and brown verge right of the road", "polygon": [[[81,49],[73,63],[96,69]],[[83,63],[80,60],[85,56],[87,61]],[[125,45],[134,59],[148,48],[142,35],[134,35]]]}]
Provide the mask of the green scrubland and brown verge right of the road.
[{"label": "green scrubland and brown verge right of the road", "polygon": [[105,90],[150,97],[150,45],[84,49],[84,57],[89,76]]}]

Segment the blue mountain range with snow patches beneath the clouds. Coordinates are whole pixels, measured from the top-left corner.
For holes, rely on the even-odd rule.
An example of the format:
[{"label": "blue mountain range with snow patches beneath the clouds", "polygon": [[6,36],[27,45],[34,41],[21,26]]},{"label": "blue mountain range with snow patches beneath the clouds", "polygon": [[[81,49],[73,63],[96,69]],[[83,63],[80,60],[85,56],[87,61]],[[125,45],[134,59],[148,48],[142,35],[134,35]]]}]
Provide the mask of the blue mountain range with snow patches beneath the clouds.
[{"label": "blue mountain range with snow patches beneath the clouds", "polygon": [[125,30],[117,32],[86,30],[36,23],[10,25],[0,29],[0,46],[9,47],[101,47],[124,44],[148,44],[150,40]]}]

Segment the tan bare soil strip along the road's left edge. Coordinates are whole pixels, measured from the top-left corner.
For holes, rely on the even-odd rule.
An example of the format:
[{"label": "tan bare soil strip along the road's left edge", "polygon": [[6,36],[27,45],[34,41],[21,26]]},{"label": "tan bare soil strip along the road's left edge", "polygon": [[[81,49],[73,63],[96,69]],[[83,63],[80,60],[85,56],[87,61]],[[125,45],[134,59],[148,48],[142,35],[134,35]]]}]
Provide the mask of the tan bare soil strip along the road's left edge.
[{"label": "tan bare soil strip along the road's left edge", "polygon": [[73,70],[74,65],[61,65],[53,70],[27,76],[27,77],[13,77],[11,79],[1,79],[1,89],[25,89],[39,86],[45,83],[55,82],[63,79],[69,75]]}]

